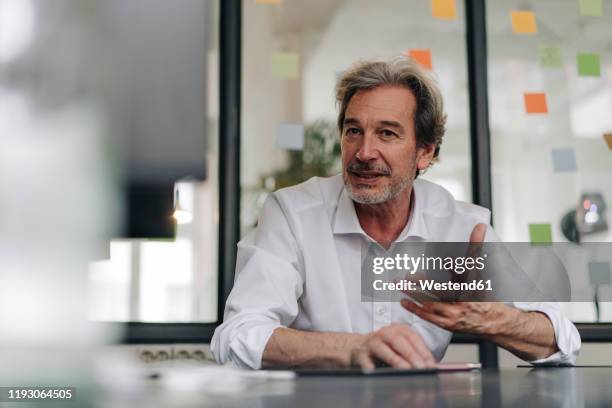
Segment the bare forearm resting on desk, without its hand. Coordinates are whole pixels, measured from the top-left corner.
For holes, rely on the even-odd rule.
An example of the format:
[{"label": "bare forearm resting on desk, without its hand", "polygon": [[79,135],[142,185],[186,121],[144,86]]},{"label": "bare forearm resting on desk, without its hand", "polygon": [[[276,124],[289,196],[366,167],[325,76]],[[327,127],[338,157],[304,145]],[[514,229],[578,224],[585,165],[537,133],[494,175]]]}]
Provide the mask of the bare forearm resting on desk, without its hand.
[{"label": "bare forearm resting on desk, without its hand", "polygon": [[348,367],[351,350],[362,344],[365,337],[279,327],[266,344],[262,367]]}]

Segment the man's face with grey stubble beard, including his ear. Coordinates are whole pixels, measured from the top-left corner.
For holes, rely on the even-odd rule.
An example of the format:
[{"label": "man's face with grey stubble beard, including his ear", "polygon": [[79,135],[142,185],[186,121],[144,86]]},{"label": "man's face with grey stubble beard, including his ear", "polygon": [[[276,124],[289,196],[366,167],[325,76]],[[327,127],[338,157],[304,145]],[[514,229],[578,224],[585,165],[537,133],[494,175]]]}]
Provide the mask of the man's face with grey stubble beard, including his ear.
[{"label": "man's face with grey stubble beard, including his ear", "polygon": [[417,148],[416,99],[399,86],[358,91],[342,129],[344,185],[361,204],[379,204],[412,185],[416,170],[432,160],[434,146]]}]

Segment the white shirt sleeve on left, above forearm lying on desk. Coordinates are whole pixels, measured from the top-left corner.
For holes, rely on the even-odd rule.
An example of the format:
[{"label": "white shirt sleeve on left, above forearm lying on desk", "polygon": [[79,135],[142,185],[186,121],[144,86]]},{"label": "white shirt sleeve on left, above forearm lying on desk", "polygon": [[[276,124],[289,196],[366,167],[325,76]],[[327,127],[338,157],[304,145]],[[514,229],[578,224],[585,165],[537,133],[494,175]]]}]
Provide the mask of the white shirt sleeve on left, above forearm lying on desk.
[{"label": "white shirt sleeve on left, above forearm lying on desk", "polygon": [[294,231],[271,194],[256,230],[238,243],[234,286],[211,341],[218,363],[261,367],[274,330],[289,326],[298,314],[304,282],[299,254]]}]

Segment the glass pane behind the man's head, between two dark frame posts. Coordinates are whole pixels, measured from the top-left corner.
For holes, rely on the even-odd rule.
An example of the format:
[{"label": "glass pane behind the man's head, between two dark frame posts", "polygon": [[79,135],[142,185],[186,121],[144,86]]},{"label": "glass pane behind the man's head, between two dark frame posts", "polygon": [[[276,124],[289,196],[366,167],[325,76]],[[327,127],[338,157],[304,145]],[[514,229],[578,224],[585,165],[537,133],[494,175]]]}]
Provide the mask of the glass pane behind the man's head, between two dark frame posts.
[{"label": "glass pane behind the man's head, between two dark frame posts", "polygon": [[339,73],[361,59],[410,50],[431,52],[448,113],[440,162],[423,177],[471,201],[463,2],[451,19],[434,18],[432,3],[422,0],[242,4],[243,234],[256,224],[268,192],[340,171]]}]

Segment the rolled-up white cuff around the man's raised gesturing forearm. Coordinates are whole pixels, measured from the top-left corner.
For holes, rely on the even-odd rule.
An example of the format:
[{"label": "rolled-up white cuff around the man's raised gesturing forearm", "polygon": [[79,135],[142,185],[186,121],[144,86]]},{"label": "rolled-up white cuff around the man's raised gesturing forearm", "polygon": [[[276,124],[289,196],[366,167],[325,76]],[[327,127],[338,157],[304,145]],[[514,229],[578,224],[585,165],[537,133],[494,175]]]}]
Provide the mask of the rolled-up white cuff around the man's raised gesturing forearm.
[{"label": "rolled-up white cuff around the man's raised gesturing forearm", "polygon": [[525,311],[544,313],[552,323],[559,351],[539,360],[529,361],[533,365],[575,365],[582,344],[580,333],[574,323],[563,314],[554,302],[515,302],[514,306]]}]

